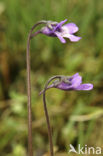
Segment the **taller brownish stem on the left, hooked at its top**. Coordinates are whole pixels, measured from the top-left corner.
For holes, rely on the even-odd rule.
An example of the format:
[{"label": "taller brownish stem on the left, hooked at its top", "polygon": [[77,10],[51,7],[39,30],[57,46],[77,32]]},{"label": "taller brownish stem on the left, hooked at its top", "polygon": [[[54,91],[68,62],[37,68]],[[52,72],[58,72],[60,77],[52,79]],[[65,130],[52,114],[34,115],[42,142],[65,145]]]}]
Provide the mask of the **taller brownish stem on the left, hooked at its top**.
[{"label": "taller brownish stem on the left, hooked at its top", "polygon": [[33,156],[32,148],[32,113],[31,113],[31,79],[30,79],[30,40],[40,33],[35,32],[32,35],[33,30],[40,24],[46,24],[46,21],[39,21],[30,30],[27,40],[26,62],[27,62],[27,95],[28,95],[28,156]]}]

